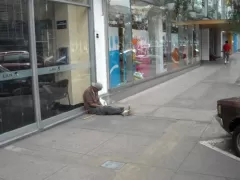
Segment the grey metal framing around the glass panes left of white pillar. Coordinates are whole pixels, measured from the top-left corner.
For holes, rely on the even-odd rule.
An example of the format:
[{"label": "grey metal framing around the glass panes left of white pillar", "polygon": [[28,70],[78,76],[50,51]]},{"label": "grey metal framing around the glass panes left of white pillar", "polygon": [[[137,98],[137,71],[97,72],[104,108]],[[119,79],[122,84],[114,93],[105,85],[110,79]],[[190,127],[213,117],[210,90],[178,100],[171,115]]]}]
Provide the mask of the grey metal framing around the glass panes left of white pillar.
[{"label": "grey metal framing around the glass panes left of white pillar", "polygon": [[[46,120],[41,118],[41,109],[40,109],[40,97],[39,97],[39,86],[38,86],[38,67],[37,62],[37,49],[36,49],[36,32],[35,32],[35,11],[34,11],[34,1],[27,1],[28,11],[28,23],[32,24],[29,26],[29,56],[32,70],[32,93],[33,93],[33,109],[34,109],[34,123],[26,125],[24,127],[6,132],[0,135],[0,146],[6,143],[21,139],[25,136],[34,134],[36,132],[42,131],[43,129],[50,128],[59,123],[73,119],[84,113],[83,108],[74,109],[72,111],[65,112],[63,114],[51,117]],[[57,3],[67,3],[66,0],[52,0]],[[90,81],[96,82],[96,65],[95,65],[95,43],[94,43],[94,14],[93,14],[93,0],[89,0],[89,5],[81,3],[68,3],[71,5],[77,5],[88,8],[88,28],[89,28],[89,64],[90,64]]]}]

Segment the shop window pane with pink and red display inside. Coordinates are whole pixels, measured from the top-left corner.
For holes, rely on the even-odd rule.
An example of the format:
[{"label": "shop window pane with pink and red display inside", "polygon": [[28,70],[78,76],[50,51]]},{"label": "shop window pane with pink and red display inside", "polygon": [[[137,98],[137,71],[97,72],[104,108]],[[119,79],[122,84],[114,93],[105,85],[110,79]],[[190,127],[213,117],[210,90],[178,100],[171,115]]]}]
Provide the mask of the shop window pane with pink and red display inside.
[{"label": "shop window pane with pink and red display inside", "polygon": [[154,77],[165,72],[164,13],[159,7],[139,0],[131,1],[134,48],[134,79]]}]

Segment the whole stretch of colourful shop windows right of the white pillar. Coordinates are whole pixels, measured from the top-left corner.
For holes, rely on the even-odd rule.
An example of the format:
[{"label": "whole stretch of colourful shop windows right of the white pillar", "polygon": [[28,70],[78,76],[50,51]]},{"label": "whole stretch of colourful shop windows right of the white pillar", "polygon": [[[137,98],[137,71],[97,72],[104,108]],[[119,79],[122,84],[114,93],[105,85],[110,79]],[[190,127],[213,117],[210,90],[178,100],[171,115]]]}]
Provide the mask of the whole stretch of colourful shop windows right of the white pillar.
[{"label": "whole stretch of colourful shop windows right of the white pillar", "polygon": [[110,88],[128,83],[130,76],[143,80],[199,61],[199,28],[177,26],[172,14],[141,0],[110,1]]}]

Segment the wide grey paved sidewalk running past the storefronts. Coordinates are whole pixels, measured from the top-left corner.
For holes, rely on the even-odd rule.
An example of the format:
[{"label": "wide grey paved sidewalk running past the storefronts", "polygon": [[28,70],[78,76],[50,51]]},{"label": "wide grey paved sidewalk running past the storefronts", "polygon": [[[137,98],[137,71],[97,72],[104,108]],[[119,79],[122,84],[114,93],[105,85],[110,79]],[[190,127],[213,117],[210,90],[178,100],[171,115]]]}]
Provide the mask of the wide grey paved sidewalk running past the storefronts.
[{"label": "wide grey paved sidewalk running past the storefronts", "polygon": [[133,116],[84,115],[2,148],[0,180],[240,180],[240,161],[199,143],[228,137],[214,115],[218,99],[239,96],[239,59],[115,104]]}]

